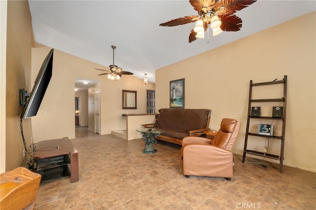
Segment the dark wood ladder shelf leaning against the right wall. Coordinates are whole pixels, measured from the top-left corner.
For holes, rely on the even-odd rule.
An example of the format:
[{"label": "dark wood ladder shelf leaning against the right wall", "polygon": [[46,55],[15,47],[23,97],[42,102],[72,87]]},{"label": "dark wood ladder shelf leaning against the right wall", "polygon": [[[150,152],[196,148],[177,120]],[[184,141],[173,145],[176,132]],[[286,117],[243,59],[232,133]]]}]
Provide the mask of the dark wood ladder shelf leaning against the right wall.
[{"label": "dark wood ladder shelf leaning against the right wall", "polygon": [[[254,86],[264,86],[264,85],[275,85],[275,84],[283,84],[283,97],[280,99],[252,99],[252,87]],[[242,162],[245,161],[246,154],[251,155],[257,155],[261,157],[267,157],[275,160],[279,160],[279,170],[282,174],[283,169],[283,159],[284,159],[284,141],[285,141],[285,121],[286,121],[286,86],[287,86],[287,76],[284,75],[284,78],[282,80],[272,81],[272,82],[261,82],[261,83],[252,83],[252,80],[250,80],[250,87],[249,87],[249,103],[248,103],[248,117],[247,117],[247,125],[246,125],[246,135],[245,135],[245,142],[244,142],[244,149],[243,149],[243,157]],[[283,113],[281,118],[273,118],[272,116],[251,116],[251,105],[252,103],[270,103],[270,102],[282,102],[283,104]],[[254,119],[273,119],[273,120],[281,120],[282,121],[282,134],[281,136],[266,136],[266,135],[259,135],[249,132],[249,125],[250,120]],[[250,136],[255,137],[263,137],[263,138],[271,138],[276,140],[281,140],[281,146],[280,146],[280,153],[278,155],[275,154],[269,154],[269,153],[263,153],[260,151],[254,151],[247,149],[248,140],[250,139]]]}]

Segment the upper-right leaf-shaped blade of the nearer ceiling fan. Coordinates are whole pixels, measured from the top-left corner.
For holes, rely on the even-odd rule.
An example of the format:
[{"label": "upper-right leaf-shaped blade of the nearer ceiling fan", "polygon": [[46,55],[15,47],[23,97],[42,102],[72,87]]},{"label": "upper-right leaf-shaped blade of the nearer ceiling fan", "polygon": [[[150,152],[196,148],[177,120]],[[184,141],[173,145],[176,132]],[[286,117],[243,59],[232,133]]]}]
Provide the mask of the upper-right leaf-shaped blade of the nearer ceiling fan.
[{"label": "upper-right leaf-shaped blade of the nearer ceiling fan", "polygon": [[251,4],[256,0],[221,0],[217,1],[214,5],[215,10],[220,9],[222,6],[225,7],[224,11],[218,12],[219,15],[233,14]]}]

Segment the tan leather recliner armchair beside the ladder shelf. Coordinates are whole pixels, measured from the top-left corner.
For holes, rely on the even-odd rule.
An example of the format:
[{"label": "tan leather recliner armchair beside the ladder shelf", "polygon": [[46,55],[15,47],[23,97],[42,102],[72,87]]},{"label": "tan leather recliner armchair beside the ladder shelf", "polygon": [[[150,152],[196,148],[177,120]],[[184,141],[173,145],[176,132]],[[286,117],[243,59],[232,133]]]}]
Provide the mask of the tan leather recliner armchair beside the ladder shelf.
[{"label": "tan leather recliner armchair beside the ladder shelf", "polygon": [[239,128],[240,122],[224,118],[214,140],[185,137],[181,147],[183,175],[224,177],[231,180],[234,173],[232,148]]}]

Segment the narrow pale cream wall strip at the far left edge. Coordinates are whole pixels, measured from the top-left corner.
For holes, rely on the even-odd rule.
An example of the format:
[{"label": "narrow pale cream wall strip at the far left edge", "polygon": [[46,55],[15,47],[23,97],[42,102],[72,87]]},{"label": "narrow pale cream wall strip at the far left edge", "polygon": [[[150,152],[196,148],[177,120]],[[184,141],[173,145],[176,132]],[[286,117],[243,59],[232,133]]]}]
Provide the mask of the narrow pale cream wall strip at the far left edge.
[{"label": "narrow pale cream wall strip at the far left edge", "polygon": [[5,172],[5,75],[7,1],[0,1],[0,173]]}]

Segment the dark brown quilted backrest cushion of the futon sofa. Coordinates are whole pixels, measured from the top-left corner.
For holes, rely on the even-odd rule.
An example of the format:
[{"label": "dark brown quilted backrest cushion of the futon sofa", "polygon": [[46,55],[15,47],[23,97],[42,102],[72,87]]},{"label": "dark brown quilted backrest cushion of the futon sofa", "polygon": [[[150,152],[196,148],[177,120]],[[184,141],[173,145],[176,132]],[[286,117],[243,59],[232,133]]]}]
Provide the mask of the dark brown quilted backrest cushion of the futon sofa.
[{"label": "dark brown quilted backrest cushion of the futon sofa", "polygon": [[161,108],[155,127],[180,132],[206,128],[210,113],[209,109]]}]

